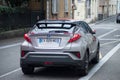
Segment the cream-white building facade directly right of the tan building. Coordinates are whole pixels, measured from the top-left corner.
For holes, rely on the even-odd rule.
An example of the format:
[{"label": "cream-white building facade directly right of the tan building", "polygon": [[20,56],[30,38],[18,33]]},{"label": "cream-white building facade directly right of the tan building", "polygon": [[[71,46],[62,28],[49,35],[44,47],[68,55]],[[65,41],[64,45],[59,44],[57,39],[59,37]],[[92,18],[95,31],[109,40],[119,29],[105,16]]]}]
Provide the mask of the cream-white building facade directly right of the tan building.
[{"label": "cream-white building facade directly right of the tan building", "polygon": [[99,0],[74,0],[74,19],[93,22],[98,18]]}]

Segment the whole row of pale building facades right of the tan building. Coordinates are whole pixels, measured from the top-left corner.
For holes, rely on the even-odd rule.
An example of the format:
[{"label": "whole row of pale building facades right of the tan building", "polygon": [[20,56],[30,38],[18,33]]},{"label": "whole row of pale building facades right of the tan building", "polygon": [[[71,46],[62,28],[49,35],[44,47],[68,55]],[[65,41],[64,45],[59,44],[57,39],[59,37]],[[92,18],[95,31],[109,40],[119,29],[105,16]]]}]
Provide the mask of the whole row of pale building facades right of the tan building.
[{"label": "whole row of pale building facades right of the tan building", "polygon": [[120,12],[120,0],[73,0],[74,19],[95,22]]}]

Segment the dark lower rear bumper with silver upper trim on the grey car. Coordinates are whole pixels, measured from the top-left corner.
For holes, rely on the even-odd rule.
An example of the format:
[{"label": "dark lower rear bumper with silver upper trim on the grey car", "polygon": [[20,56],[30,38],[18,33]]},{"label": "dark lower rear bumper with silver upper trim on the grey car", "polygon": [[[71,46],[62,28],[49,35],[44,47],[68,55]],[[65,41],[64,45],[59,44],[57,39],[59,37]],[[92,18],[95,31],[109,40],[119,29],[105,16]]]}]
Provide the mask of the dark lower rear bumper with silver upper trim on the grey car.
[{"label": "dark lower rear bumper with silver upper trim on the grey car", "polygon": [[29,52],[21,58],[21,67],[31,65],[44,66],[82,66],[83,61],[70,53],[39,53]]}]

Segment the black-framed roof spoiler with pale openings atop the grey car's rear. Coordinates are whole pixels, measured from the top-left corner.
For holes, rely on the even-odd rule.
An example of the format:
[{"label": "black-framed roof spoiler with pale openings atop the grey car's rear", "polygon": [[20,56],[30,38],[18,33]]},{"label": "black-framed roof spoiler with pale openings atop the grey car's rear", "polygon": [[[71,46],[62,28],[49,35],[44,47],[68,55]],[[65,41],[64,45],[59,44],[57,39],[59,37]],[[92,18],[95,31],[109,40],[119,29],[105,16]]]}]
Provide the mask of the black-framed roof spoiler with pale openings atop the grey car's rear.
[{"label": "black-framed roof spoiler with pale openings atop the grey car's rear", "polygon": [[51,29],[51,28],[59,28],[59,29],[70,29],[72,28],[73,26],[75,26],[75,24],[59,24],[59,23],[37,23],[36,26],[39,28],[39,29]]}]

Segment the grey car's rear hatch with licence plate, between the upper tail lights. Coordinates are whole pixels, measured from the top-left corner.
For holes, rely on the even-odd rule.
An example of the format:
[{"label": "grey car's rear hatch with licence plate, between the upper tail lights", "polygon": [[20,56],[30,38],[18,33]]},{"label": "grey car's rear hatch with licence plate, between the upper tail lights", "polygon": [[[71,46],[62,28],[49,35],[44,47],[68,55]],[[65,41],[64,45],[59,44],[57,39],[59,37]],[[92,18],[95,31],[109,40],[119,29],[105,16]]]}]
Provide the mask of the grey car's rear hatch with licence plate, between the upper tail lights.
[{"label": "grey car's rear hatch with licence plate, between the upper tail lights", "polygon": [[[54,25],[52,25],[54,26]],[[69,28],[38,28],[30,35],[32,46],[39,49],[70,49],[68,41],[73,36],[73,27]]]}]

